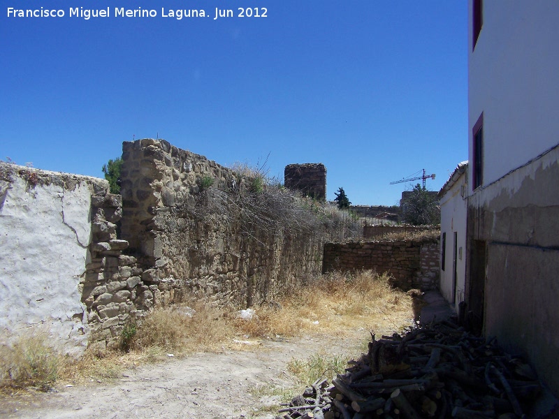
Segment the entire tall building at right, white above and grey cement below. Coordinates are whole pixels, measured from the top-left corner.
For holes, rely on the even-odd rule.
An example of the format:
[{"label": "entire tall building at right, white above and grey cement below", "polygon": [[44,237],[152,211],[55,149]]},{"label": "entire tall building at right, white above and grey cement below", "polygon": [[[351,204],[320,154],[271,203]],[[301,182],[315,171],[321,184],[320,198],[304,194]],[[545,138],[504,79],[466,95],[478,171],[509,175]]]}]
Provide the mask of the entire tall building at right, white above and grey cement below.
[{"label": "entire tall building at right, white above and grey cement below", "polygon": [[559,394],[559,1],[469,0],[470,321]]}]

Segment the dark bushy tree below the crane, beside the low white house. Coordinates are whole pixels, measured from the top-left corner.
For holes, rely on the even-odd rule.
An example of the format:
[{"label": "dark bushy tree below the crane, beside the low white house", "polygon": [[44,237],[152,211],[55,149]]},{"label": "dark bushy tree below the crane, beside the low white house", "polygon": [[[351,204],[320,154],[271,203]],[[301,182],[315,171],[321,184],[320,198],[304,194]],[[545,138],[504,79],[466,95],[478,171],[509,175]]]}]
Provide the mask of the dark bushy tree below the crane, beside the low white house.
[{"label": "dark bushy tree below the crane, beside the low white house", "polygon": [[404,221],[413,226],[440,224],[441,220],[437,196],[420,184],[402,201],[402,214]]}]

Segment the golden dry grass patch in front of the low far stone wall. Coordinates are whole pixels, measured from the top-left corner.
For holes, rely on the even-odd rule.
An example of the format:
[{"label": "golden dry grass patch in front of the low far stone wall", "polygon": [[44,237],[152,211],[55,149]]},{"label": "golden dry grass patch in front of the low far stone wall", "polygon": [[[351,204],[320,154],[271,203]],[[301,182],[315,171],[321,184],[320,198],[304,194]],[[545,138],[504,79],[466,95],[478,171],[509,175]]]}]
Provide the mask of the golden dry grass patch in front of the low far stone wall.
[{"label": "golden dry grass patch in front of the low far stone wall", "polygon": [[235,321],[252,337],[303,333],[344,335],[356,328],[400,331],[414,318],[412,297],[391,288],[387,274],[371,271],[317,277],[277,297],[281,309],[262,304],[252,321]]}]

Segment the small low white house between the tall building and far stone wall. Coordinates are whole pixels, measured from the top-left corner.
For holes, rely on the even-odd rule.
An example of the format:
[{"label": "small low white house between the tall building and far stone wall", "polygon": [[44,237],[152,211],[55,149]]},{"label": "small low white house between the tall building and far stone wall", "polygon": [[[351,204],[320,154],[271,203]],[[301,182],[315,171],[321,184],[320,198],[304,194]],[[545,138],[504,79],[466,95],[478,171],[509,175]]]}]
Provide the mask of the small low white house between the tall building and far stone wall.
[{"label": "small low white house between the tall building and far stone wall", "polygon": [[467,161],[459,163],[438,198],[441,207],[440,291],[458,312],[465,297]]}]

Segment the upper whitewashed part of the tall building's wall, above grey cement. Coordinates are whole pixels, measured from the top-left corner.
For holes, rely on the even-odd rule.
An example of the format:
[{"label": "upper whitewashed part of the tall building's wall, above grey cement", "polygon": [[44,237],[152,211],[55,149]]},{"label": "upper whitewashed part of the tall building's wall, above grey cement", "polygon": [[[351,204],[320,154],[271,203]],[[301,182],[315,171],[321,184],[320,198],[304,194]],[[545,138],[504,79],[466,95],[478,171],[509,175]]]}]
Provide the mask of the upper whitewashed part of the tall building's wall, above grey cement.
[{"label": "upper whitewashed part of the tall building's wall, above grey cement", "polygon": [[469,5],[470,169],[472,128],[484,112],[486,185],[559,142],[559,1],[484,1],[473,52]]}]

